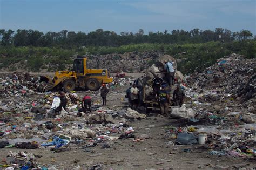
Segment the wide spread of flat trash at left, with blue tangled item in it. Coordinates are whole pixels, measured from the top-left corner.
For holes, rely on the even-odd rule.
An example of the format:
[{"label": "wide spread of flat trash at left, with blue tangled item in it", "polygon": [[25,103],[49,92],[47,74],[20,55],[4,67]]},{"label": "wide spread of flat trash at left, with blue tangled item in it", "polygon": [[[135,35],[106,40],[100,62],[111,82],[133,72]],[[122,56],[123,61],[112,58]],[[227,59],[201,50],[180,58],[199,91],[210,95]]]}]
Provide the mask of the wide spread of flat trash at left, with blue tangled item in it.
[{"label": "wide spread of flat trash at left, with blue tangled item in it", "polygon": [[[107,149],[115,140],[146,140],[147,136],[135,136],[136,130],[129,125],[129,119],[145,119],[145,114],[120,106],[112,106],[113,110],[103,108],[102,101],[96,97],[99,91],[87,91],[86,94],[93,98],[90,114],[81,111],[80,101],[84,92],[66,93],[68,105],[60,114],[51,108],[58,92],[44,92],[39,98],[0,101],[0,148],[9,148],[10,151],[12,148],[49,149],[52,152],[80,148],[94,155],[99,153],[93,147]],[[26,152],[9,152],[4,162],[4,166],[9,168],[45,169],[52,166],[52,162],[39,165],[35,155]],[[59,169],[65,166],[56,165]]]}]

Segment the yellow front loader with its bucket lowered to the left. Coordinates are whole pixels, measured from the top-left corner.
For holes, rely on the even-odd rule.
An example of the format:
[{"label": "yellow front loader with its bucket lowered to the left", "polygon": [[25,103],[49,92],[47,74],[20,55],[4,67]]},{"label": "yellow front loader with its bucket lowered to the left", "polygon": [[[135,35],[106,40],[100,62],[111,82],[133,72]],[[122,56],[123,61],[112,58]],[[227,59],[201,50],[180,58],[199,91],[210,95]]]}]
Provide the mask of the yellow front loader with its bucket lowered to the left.
[{"label": "yellow front loader with its bucket lowered to the left", "polygon": [[40,76],[41,81],[47,83],[47,90],[73,91],[77,87],[99,90],[103,83],[111,83],[106,69],[87,69],[87,58],[78,56],[73,63],[72,71],[56,71],[53,78]]}]

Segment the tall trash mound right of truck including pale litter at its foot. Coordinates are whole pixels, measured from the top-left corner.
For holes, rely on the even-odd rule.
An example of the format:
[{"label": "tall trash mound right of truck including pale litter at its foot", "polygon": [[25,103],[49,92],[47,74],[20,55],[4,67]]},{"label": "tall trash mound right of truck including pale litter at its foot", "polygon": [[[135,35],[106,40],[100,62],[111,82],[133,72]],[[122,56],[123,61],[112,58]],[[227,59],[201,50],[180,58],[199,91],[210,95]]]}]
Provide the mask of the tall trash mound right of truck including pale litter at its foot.
[{"label": "tall trash mound right of truck including pale litter at its foot", "polygon": [[230,126],[255,123],[255,66],[255,59],[233,54],[186,77],[187,106],[197,111],[197,119],[228,119]]}]

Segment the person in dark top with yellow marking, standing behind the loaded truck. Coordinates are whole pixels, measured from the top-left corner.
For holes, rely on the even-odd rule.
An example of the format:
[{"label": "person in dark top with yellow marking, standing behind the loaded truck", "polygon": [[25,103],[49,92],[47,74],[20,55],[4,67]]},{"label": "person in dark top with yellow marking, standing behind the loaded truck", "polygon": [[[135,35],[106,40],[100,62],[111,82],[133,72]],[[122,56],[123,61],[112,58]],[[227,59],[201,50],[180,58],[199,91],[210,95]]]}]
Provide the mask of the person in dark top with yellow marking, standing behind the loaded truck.
[{"label": "person in dark top with yellow marking, standing behind the loaded truck", "polygon": [[159,105],[160,105],[160,112],[161,114],[168,114],[168,108],[169,108],[169,94],[166,91],[166,86],[162,85],[162,89],[159,91]]}]

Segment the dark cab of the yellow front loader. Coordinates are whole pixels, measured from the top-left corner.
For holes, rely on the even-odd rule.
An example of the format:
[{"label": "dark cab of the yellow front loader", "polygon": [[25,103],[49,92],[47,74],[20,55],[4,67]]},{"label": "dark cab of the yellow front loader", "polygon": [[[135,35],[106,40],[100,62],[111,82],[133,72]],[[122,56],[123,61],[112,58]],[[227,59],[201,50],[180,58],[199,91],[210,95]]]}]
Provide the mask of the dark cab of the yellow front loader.
[{"label": "dark cab of the yellow front loader", "polygon": [[86,62],[87,58],[78,56],[73,63],[72,71],[75,71],[77,76],[84,76],[86,73]]}]

